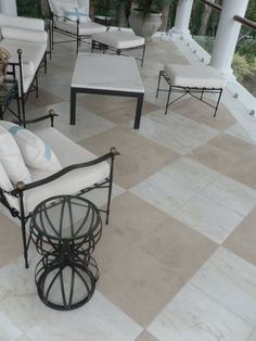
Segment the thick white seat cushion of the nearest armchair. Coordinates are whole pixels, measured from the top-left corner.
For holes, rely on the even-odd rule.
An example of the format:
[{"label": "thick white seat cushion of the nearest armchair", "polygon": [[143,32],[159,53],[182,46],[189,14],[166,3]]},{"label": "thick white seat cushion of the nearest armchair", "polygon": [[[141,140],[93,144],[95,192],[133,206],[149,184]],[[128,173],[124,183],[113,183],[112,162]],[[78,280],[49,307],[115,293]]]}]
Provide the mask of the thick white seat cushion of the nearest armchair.
[{"label": "thick white seat cushion of the nearest armchair", "polygon": [[[95,155],[73,142],[54,128],[42,129],[36,131],[36,134],[51,146],[60,160],[62,167],[97,159]],[[33,181],[53,174],[52,172],[43,172],[34,168],[29,168],[29,171]],[[26,212],[31,212],[42,200],[52,195],[76,193],[84,188],[104,180],[108,175],[110,165],[107,162],[69,172],[61,178],[43,185],[40,188],[26,191],[24,193],[25,210]]]}]

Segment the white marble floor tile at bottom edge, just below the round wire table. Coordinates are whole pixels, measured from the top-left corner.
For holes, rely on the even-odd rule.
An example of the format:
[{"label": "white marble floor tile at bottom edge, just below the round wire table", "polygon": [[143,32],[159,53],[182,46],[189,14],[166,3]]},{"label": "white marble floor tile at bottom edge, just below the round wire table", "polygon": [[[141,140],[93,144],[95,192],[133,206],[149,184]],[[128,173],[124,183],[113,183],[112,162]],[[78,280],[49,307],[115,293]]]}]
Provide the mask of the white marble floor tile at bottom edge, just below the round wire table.
[{"label": "white marble floor tile at bottom edge, just below the round wire table", "polygon": [[95,291],[79,310],[48,314],[26,333],[33,341],[133,341],[143,328]]}]

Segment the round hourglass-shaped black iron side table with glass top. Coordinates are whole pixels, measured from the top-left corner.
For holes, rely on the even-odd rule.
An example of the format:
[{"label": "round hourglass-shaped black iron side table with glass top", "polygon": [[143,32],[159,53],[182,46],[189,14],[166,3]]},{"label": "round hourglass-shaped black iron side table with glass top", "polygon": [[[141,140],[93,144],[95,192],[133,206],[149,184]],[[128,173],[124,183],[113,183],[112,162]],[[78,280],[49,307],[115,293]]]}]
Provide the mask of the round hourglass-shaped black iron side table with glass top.
[{"label": "round hourglass-shaped black iron side table with glass top", "polygon": [[42,256],[35,270],[41,301],[59,311],[87,303],[99,279],[91,255],[102,233],[97,206],[77,195],[49,198],[34,210],[30,233]]}]

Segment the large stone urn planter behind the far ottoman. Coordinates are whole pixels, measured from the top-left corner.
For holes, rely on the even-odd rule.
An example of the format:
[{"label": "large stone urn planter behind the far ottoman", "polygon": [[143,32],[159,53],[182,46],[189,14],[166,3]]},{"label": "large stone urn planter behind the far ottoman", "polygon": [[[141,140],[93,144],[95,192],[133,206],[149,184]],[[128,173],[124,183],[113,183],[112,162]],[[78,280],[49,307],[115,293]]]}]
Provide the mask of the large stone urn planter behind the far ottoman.
[{"label": "large stone urn planter behind the far ottoman", "polygon": [[150,41],[162,25],[161,17],[162,13],[149,13],[143,15],[141,10],[132,9],[130,11],[129,23],[137,36],[144,37],[145,41]]}]

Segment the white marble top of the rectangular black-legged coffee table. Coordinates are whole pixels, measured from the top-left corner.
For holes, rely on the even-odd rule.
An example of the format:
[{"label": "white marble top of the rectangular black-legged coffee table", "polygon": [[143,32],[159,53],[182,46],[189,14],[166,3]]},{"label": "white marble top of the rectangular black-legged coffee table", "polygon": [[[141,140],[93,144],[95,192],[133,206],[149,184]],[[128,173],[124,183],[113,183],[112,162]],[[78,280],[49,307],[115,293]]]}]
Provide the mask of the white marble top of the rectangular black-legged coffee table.
[{"label": "white marble top of the rectangular black-legged coffee table", "polygon": [[72,88],[144,93],[135,58],[79,52]]}]

